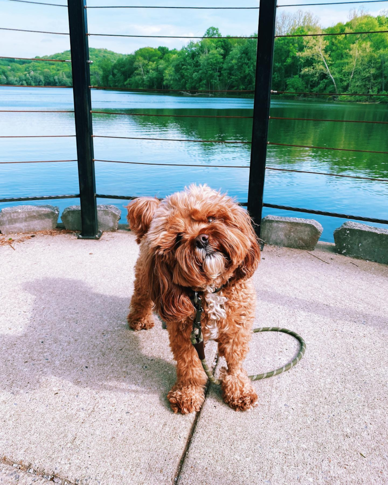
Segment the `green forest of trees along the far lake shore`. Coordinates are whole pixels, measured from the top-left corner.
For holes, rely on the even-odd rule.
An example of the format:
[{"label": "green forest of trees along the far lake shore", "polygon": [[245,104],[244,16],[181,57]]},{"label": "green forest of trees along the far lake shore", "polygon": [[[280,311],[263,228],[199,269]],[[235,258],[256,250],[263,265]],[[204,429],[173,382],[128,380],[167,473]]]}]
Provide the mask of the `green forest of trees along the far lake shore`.
[{"label": "green forest of trees along the far lake shore", "polygon": [[[282,13],[277,18],[277,35],[383,30],[388,30],[388,10],[376,17],[353,10],[346,23],[325,29],[310,12]],[[128,89],[253,90],[255,35],[222,39],[219,29],[210,27],[203,39],[190,41],[181,49],[144,47],[124,55],[91,48],[91,82],[93,86]],[[46,58],[70,59],[70,51]],[[275,40],[272,88],[384,95],[388,92],[387,62],[387,33],[279,37]],[[71,86],[70,63],[0,59],[0,84]],[[384,96],[332,99],[388,101]]]}]

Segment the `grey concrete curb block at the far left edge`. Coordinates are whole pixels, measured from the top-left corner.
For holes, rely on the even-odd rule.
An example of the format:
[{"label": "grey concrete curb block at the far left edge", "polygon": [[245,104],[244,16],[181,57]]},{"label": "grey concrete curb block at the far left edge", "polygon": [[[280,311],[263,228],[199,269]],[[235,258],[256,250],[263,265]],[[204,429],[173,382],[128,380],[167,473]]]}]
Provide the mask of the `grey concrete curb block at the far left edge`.
[{"label": "grey concrete curb block at the far left edge", "polygon": [[17,205],[0,210],[2,234],[30,233],[55,229],[59,207],[54,205]]}]

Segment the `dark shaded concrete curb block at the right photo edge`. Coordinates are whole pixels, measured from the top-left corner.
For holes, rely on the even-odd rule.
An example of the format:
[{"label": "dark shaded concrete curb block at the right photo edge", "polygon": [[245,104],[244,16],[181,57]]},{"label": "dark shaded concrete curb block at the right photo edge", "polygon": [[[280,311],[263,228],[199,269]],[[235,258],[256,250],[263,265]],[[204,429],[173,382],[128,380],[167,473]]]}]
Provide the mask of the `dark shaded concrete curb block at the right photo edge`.
[{"label": "dark shaded concrete curb block at the right photo edge", "polygon": [[344,256],[388,264],[388,230],[345,222],[334,231],[336,251]]}]

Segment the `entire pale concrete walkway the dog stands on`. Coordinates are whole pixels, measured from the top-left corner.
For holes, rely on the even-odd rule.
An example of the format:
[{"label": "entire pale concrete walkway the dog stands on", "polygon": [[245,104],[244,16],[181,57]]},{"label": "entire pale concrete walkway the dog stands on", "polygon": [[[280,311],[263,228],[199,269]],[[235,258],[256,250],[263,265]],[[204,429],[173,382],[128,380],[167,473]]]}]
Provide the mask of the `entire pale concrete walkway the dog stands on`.
[{"label": "entire pale concrete walkway the dog stands on", "polygon": [[[254,384],[252,411],[232,411],[212,385],[200,413],[181,416],[166,400],[167,332],[127,328],[135,238],[13,247],[0,246],[1,485],[388,483],[387,266],[330,245],[266,247],[256,326],[300,333],[305,357]],[[246,368],[296,349],[257,334]]]}]

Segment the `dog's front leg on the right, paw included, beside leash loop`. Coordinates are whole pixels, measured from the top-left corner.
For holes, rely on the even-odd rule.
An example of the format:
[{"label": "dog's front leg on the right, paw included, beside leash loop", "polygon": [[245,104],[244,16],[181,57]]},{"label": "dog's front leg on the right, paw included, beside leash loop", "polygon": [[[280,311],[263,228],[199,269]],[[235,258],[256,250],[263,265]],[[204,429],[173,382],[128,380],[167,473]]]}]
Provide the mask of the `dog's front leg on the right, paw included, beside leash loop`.
[{"label": "dog's front leg on the right, paw included, beside leash loop", "polygon": [[245,411],[257,403],[257,394],[242,367],[249,350],[250,328],[230,325],[228,332],[218,339],[218,352],[225,357],[228,369],[221,369],[222,395],[224,401],[236,411]]}]

